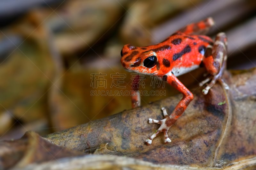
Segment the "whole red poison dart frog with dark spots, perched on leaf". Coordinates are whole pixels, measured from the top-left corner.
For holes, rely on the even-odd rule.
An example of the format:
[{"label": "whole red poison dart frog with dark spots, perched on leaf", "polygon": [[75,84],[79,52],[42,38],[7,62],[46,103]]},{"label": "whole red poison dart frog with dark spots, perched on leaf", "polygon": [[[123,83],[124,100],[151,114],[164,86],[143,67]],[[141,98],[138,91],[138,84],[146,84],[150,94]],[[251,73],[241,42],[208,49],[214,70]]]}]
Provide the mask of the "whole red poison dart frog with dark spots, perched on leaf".
[{"label": "whole red poison dart frog with dark spots, perched on leaf", "polygon": [[[146,144],[151,144],[160,132],[164,132],[165,143],[171,142],[168,130],[193,100],[193,94],[179,81],[177,76],[203,65],[210,74],[199,84],[203,86],[209,82],[202,91],[205,95],[217,80],[222,82],[221,77],[226,68],[228,44],[225,33],[218,33],[214,41],[208,36],[197,35],[207,32],[212,25],[214,25],[213,19],[206,18],[185,26],[156,45],[147,47],[124,45],[121,51],[121,63],[125,70],[157,76],[183,94],[183,98],[171,115],[168,115],[166,109],[162,107],[164,119],[158,121],[149,118],[149,123],[158,123],[160,127],[145,141]],[[139,75],[136,79],[139,79]],[[132,90],[134,92],[132,107],[138,107],[140,106],[139,91],[136,86]]]}]

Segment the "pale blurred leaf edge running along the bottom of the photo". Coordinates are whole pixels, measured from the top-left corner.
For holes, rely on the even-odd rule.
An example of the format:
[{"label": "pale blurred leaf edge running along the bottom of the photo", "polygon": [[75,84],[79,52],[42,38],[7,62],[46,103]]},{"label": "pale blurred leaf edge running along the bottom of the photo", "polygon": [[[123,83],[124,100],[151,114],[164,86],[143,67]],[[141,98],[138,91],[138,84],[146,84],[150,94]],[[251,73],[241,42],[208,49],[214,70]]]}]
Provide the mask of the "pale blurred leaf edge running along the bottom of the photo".
[{"label": "pale blurred leaf edge running along the bottom of the photo", "polygon": [[138,169],[138,170],[254,170],[256,168],[256,158],[243,159],[221,168],[216,167],[196,167],[196,166],[182,166],[182,165],[166,165],[166,164],[154,164],[151,162],[138,160],[134,158],[128,158],[125,156],[114,155],[85,155],[80,157],[70,157],[64,159],[58,159],[57,161],[45,162],[42,164],[30,164],[23,169],[25,170],[44,170],[44,169],[76,169],[76,170],[95,170],[95,169]]}]

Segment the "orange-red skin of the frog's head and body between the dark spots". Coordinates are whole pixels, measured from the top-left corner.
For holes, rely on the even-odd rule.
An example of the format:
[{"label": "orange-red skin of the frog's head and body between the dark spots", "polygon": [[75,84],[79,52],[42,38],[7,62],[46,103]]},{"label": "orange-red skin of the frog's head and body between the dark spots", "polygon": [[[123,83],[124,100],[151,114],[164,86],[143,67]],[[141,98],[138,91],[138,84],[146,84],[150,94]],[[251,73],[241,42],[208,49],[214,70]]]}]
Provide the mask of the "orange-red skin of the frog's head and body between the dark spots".
[{"label": "orange-red skin of the frog's head and body between the dark spots", "polygon": [[[125,69],[132,70],[134,72],[138,73],[145,73],[145,74],[154,74],[158,76],[163,76],[167,74],[170,70],[173,68],[181,68],[181,67],[186,67],[189,68],[193,65],[199,65],[202,60],[204,55],[202,55],[199,52],[199,47],[204,46],[205,48],[209,45],[208,42],[202,41],[201,39],[198,38],[197,35],[189,35],[189,37],[194,38],[195,40],[191,40],[189,38],[186,38],[187,34],[180,33],[179,35],[173,35],[170,36],[169,39],[166,41],[160,42],[159,44],[156,45],[151,45],[143,48],[136,48],[136,49],[131,49],[130,44],[125,45],[122,49],[123,57],[121,58],[121,63],[123,64]],[[210,37],[204,36],[204,38],[210,42],[212,42],[212,39]],[[180,44],[174,45],[172,44],[172,40],[175,39],[181,39],[182,41]],[[170,49],[168,48],[163,48],[162,50],[154,50],[157,48],[161,48],[164,46],[171,47]],[[177,58],[175,61],[173,60],[173,55],[180,53],[186,46],[189,46],[191,51],[188,53],[185,53],[182,55],[182,57]],[[132,52],[134,54],[134,51],[138,51],[138,53],[134,56],[132,56]],[[148,52],[147,52],[148,51]],[[160,69],[158,70],[157,67],[152,67],[150,69],[145,69],[143,66],[143,61],[150,55],[152,54],[151,52],[154,52],[157,54],[157,62],[160,65]],[[128,57],[131,60],[125,61],[125,59]],[[140,58],[140,65],[137,67],[131,67],[134,63],[136,63],[136,60]],[[170,65],[167,67],[164,65],[163,61],[169,61]]]}]

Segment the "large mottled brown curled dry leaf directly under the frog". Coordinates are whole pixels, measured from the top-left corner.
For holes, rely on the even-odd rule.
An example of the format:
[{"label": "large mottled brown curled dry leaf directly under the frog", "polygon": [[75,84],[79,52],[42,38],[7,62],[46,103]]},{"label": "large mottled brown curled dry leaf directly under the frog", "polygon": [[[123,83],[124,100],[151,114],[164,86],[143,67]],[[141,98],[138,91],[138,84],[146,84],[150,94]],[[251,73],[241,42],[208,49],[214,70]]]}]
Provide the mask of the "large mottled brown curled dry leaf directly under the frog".
[{"label": "large mottled brown curled dry leaf directly under the frog", "polygon": [[[241,85],[237,80],[239,77],[247,81]],[[169,144],[163,144],[163,135],[154,139],[150,146],[144,143],[158,127],[157,124],[148,124],[147,120],[149,117],[161,119],[161,107],[173,110],[180,95],[45,138],[86,153],[93,153],[108,143],[106,154],[159,164],[223,167],[256,156],[255,79],[254,69],[226,78],[230,87],[227,92],[219,84],[206,96],[201,94],[201,89],[194,91],[194,100],[169,131],[172,139]],[[250,91],[246,90],[248,87]]]}]

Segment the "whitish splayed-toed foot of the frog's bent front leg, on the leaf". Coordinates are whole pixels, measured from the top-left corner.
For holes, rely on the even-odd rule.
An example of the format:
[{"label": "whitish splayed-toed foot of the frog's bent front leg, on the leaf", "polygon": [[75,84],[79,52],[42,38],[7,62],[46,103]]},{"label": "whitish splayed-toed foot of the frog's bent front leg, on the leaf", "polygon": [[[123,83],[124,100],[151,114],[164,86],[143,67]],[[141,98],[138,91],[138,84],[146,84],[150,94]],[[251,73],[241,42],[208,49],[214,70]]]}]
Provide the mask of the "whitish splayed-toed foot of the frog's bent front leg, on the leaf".
[{"label": "whitish splayed-toed foot of the frog's bent front leg, on the leaf", "polygon": [[156,130],[156,133],[154,133],[151,137],[149,137],[145,142],[146,144],[152,144],[152,140],[160,133],[160,132],[164,132],[164,143],[170,143],[172,142],[172,140],[168,137],[168,130],[170,129],[171,126],[167,126],[166,125],[166,120],[169,118],[167,112],[166,112],[166,109],[164,107],[162,107],[162,111],[163,111],[163,114],[164,114],[164,119],[158,121],[158,120],[155,120],[155,119],[151,119],[149,118],[148,119],[148,123],[158,123],[160,124],[160,127]]}]

